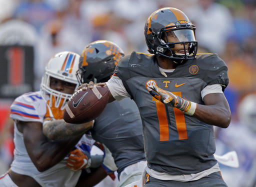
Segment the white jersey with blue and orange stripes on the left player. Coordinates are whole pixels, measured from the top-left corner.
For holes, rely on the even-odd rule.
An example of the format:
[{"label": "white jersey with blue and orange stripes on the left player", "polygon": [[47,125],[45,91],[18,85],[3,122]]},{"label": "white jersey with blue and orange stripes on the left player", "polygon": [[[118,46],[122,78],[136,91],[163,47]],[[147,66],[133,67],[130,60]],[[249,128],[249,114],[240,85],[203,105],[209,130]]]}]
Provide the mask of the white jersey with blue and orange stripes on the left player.
[{"label": "white jersey with blue and orange stripes on the left player", "polygon": [[[43,123],[47,113],[47,102],[42,98],[40,91],[29,92],[17,97],[10,106],[10,117],[14,120],[14,159],[10,169],[16,173],[33,177],[41,186],[75,186],[81,170],[72,171],[66,167],[67,156],[50,167],[39,172],[32,163],[26,151],[23,134],[18,131],[16,121],[38,121]],[[95,141],[89,134],[84,134],[74,148],[90,151]]]}]

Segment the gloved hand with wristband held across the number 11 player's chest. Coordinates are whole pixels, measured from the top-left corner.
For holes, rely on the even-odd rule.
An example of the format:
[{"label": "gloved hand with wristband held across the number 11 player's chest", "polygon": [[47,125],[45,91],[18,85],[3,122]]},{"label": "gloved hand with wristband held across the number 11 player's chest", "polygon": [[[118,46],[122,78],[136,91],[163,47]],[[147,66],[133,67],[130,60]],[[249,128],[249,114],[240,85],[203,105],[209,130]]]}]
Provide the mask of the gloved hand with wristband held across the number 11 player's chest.
[{"label": "gloved hand with wristband held across the number 11 player's chest", "polygon": [[195,102],[191,102],[178,95],[174,95],[169,91],[161,89],[157,85],[149,85],[149,88],[152,89],[149,93],[162,103],[176,107],[188,115],[194,114],[197,105]]}]

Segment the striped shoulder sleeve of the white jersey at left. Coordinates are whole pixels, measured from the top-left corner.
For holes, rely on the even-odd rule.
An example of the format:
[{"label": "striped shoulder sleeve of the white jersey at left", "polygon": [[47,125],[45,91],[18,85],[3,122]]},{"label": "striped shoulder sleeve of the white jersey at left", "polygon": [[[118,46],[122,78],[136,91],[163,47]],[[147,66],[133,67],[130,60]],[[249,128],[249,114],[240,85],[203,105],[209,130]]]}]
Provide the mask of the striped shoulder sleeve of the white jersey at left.
[{"label": "striped shoulder sleeve of the white jersey at left", "polygon": [[46,102],[39,91],[18,96],[10,106],[10,117],[21,121],[43,122]]}]

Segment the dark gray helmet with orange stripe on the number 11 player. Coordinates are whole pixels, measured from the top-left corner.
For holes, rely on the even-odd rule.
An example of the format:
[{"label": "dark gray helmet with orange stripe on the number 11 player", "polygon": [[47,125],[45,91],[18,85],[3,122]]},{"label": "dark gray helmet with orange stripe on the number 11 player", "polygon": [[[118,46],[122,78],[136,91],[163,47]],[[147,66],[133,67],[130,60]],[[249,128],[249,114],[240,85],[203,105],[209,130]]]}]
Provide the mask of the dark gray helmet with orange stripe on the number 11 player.
[{"label": "dark gray helmet with orange stripe on the number 11 player", "polygon": [[[148,51],[155,55],[164,56],[175,63],[195,58],[197,41],[195,26],[187,16],[177,8],[165,7],[153,12],[144,27],[145,41]],[[175,41],[168,41],[168,34]],[[183,52],[175,52],[175,45],[183,45]]]}]

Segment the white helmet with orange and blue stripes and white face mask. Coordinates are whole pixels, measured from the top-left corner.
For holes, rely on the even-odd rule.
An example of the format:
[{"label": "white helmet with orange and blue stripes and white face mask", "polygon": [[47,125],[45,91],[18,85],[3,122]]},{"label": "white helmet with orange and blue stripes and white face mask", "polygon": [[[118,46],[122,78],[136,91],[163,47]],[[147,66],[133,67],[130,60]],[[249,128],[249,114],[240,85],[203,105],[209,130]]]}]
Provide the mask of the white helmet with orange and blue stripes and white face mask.
[{"label": "white helmet with orange and blue stripes and white face mask", "polygon": [[[78,69],[79,57],[77,53],[63,51],[55,54],[48,61],[41,80],[40,91],[50,107],[64,109],[66,102],[72,95],[50,88],[50,77],[76,84],[77,87],[78,81],[75,73]],[[52,103],[54,103],[54,106]]]}]

